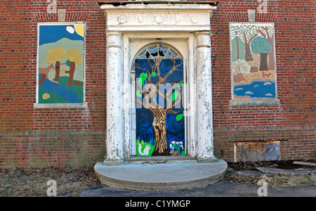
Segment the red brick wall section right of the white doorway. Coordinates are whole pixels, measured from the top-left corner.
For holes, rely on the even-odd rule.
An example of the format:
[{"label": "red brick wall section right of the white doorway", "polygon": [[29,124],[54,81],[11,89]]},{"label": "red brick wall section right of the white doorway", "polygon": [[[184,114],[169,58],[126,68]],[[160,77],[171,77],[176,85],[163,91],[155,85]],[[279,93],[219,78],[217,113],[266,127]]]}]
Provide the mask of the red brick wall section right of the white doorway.
[{"label": "red brick wall section right of the white doorway", "polygon": [[[268,0],[268,13],[258,1],[219,1],[213,13],[213,124],[215,153],[234,160],[238,141],[282,141],[282,160],[316,156],[316,4],[315,1]],[[230,106],[230,22],[247,22],[248,9],[257,22],[275,23],[277,95],[275,106]]]}]

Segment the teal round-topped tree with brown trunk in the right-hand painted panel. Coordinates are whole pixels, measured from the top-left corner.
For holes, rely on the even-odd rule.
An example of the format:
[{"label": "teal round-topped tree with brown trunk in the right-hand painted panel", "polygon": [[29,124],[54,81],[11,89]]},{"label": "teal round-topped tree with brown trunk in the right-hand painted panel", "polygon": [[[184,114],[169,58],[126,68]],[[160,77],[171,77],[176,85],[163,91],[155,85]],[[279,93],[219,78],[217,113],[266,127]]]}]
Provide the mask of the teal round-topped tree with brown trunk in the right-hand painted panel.
[{"label": "teal round-topped tree with brown trunk in the right-hand painted panel", "polygon": [[268,70],[268,53],[272,51],[272,45],[265,37],[256,37],[251,41],[251,51],[254,54],[260,54],[260,69],[261,71]]}]

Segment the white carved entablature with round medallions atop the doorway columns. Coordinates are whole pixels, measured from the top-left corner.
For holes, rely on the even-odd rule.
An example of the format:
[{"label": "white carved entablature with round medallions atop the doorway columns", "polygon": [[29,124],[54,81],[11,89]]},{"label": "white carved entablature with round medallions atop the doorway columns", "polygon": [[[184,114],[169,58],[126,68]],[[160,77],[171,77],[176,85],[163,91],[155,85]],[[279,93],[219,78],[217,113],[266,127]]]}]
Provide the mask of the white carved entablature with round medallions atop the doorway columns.
[{"label": "white carved entablature with round medallions atop the doorway columns", "polygon": [[216,10],[213,2],[127,1],[100,3],[108,31],[182,31],[210,30]]}]

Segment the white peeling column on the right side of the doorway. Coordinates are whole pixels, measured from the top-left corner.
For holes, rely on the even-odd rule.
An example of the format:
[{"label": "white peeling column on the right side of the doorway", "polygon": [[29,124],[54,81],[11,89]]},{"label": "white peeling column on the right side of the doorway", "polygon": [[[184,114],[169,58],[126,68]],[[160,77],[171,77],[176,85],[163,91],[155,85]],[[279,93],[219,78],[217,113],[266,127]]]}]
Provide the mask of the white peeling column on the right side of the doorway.
[{"label": "white peeling column on the right side of the doorway", "polygon": [[197,161],[217,162],[213,155],[211,33],[195,32],[197,40]]}]

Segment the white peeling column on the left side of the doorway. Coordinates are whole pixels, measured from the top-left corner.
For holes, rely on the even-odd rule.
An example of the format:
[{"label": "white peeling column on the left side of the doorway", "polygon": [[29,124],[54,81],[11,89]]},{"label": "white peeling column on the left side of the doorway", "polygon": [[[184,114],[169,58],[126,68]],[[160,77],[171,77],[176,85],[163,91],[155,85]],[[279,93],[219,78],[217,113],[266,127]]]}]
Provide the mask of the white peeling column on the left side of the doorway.
[{"label": "white peeling column on the left side of the doorway", "polygon": [[122,34],[107,32],[107,155],[105,165],[124,163]]}]

